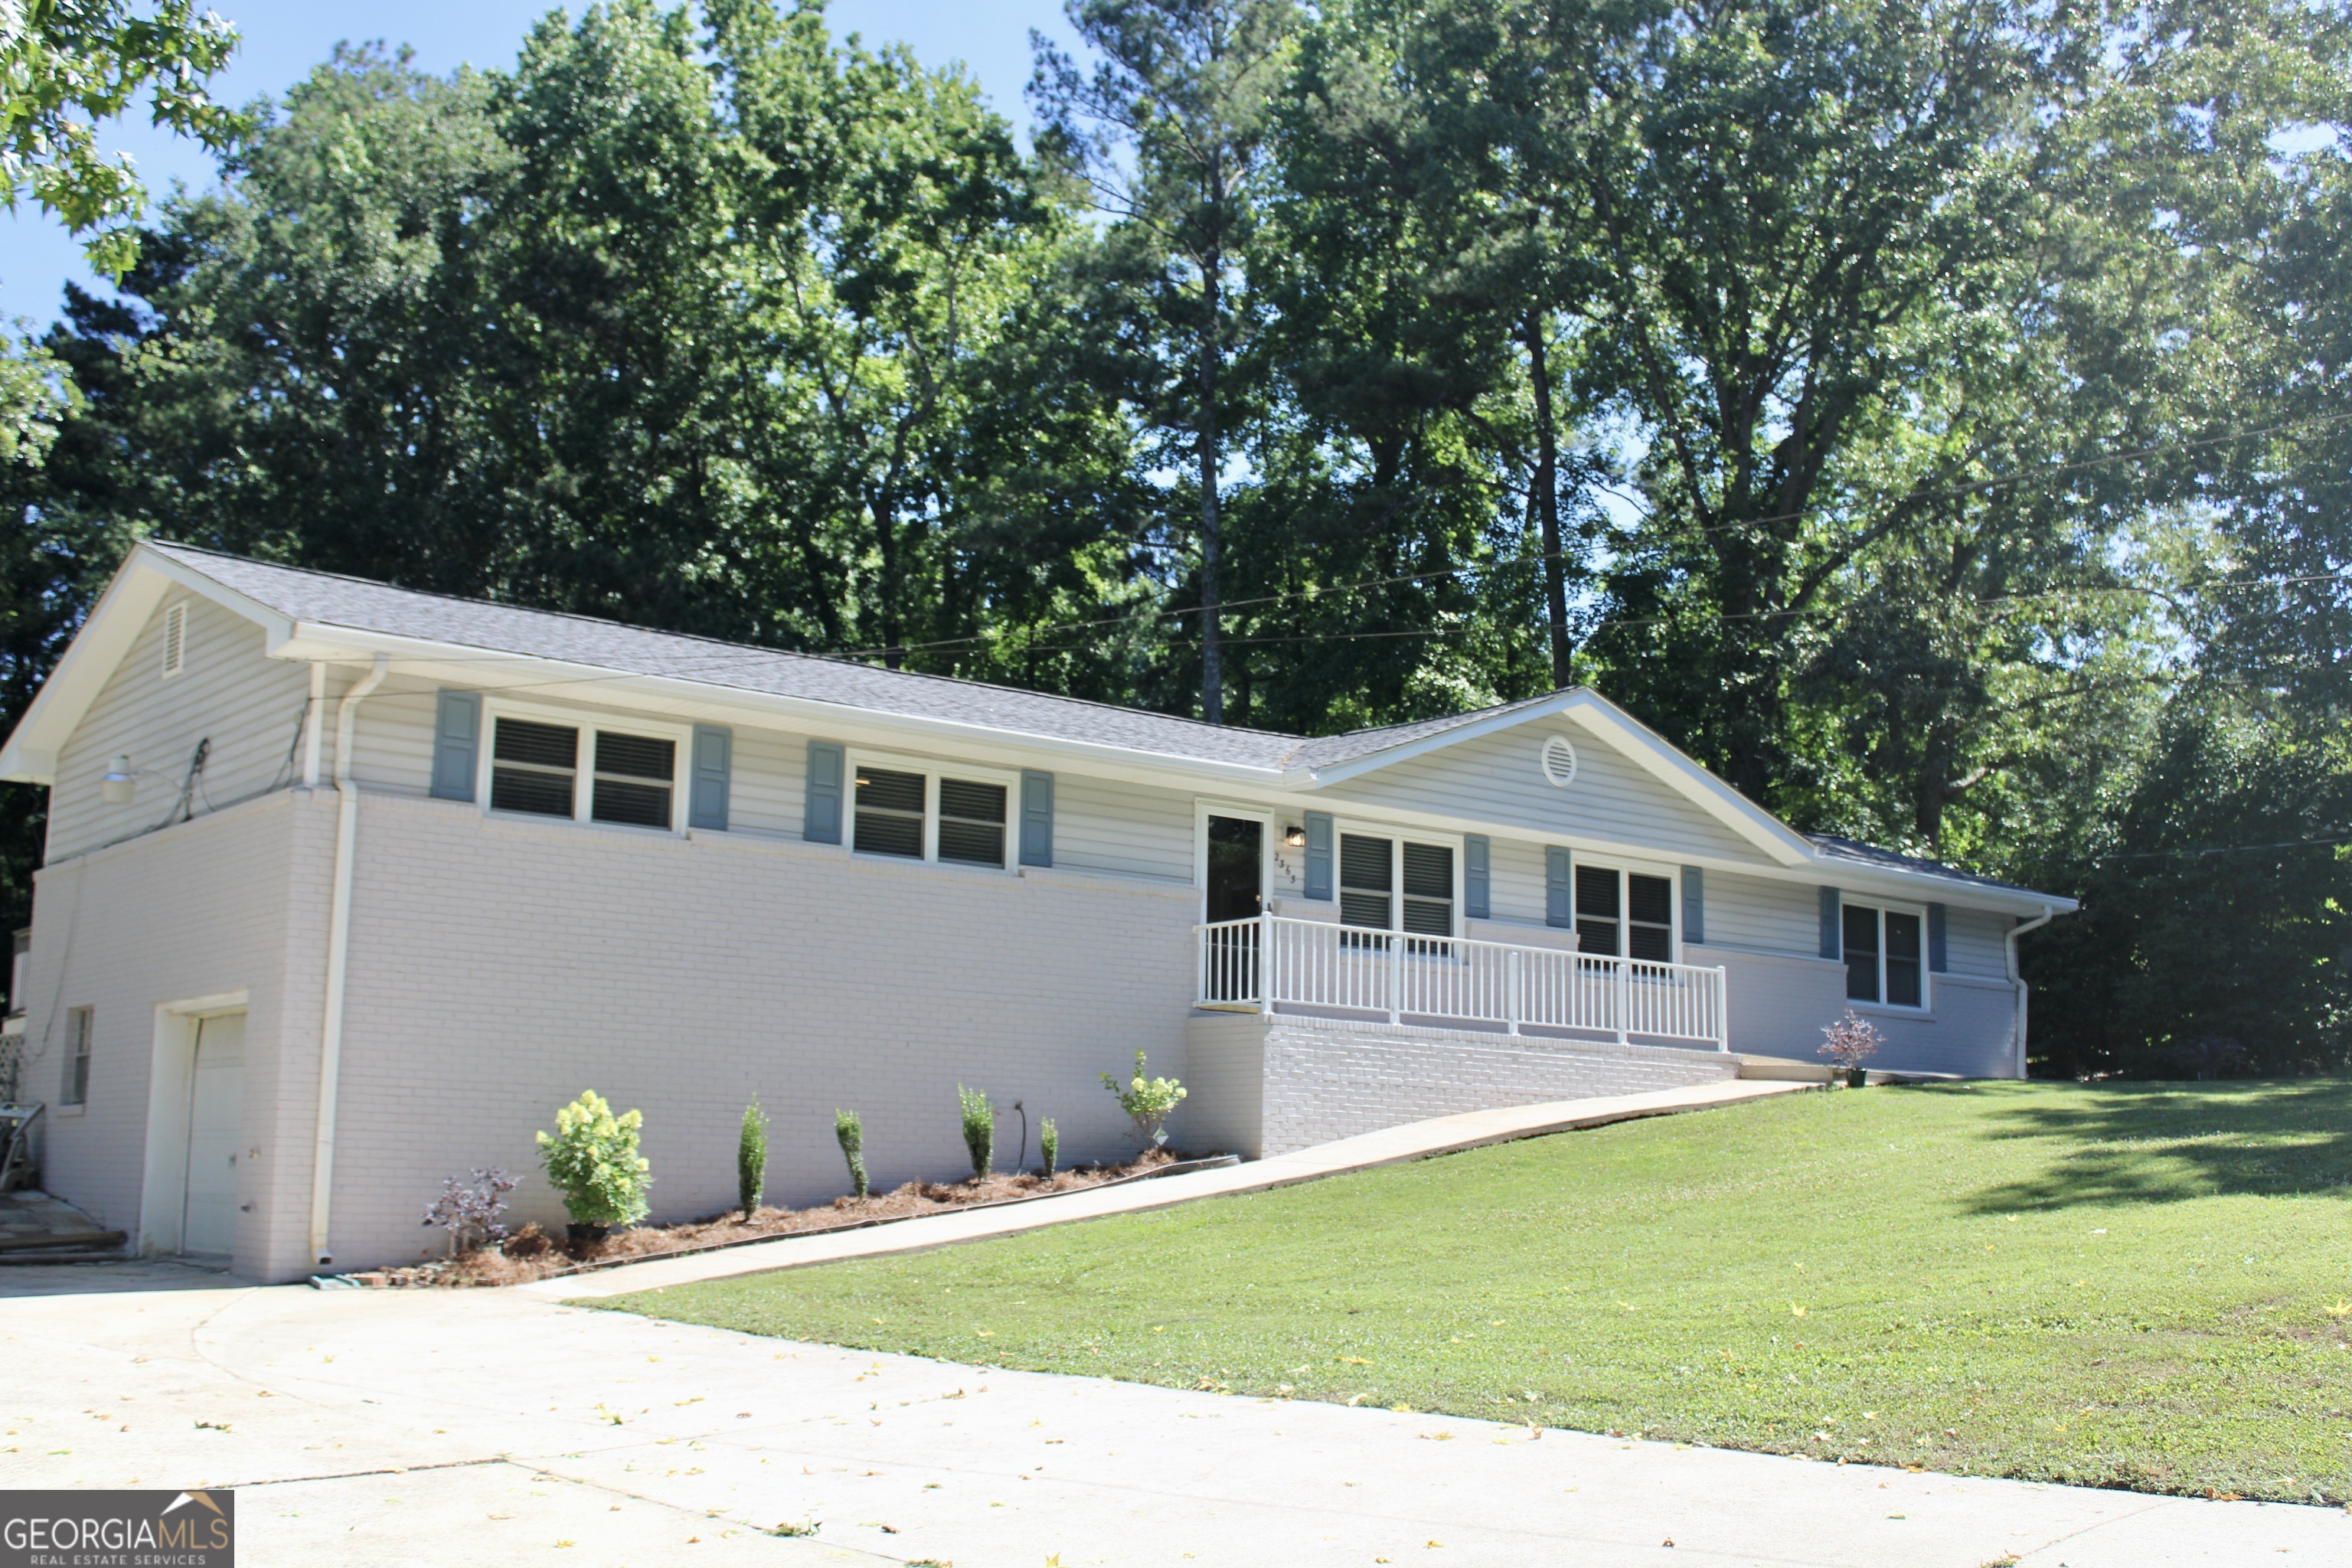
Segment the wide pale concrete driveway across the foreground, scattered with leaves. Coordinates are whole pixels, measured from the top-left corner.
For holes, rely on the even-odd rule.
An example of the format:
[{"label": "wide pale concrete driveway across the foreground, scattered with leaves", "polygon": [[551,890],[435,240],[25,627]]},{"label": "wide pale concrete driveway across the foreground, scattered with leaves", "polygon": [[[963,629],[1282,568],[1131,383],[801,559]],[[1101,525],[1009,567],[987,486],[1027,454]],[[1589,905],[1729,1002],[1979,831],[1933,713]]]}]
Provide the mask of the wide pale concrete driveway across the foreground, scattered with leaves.
[{"label": "wide pale concrete driveway across the foreground, scattered with leaves", "polygon": [[12,1269],[0,1363],[0,1483],[235,1486],[254,1566],[2352,1561],[2352,1516],[2336,1509],[1534,1439],[856,1354],[515,1291]]}]

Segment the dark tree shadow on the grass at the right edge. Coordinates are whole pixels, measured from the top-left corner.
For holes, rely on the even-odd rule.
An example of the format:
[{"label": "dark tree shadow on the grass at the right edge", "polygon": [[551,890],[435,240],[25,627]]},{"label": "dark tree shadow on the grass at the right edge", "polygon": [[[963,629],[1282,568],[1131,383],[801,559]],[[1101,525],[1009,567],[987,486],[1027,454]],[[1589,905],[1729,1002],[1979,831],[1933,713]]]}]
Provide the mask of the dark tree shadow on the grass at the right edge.
[{"label": "dark tree shadow on the grass at the right edge", "polygon": [[2340,1079],[2084,1084],[1983,1126],[1987,1140],[2042,1143],[2046,1161],[1978,1192],[1969,1213],[2343,1194],[2352,1180],[2352,1084]]}]

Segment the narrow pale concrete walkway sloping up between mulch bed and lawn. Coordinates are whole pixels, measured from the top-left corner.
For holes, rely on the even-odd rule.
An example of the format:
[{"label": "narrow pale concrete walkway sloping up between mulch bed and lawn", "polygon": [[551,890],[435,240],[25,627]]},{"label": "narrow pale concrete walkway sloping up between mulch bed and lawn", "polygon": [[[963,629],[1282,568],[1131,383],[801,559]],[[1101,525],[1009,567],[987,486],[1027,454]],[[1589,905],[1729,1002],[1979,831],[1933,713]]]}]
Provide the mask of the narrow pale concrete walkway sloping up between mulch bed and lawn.
[{"label": "narrow pale concrete walkway sloping up between mulch bed and lawn", "polygon": [[703,1279],[731,1279],[736,1274],[764,1274],[769,1269],[797,1269],[811,1262],[837,1262],[842,1258],[880,1258],[884,1253],[920,1253],[981,1237],[1007,1237],[1016,1229],[1040,1229],[1044,1225],[1070,1225],[1075,1220],[1101,1220],[1112,1213],[1143,1213],[1148,1208],[1171,1208],[1207,1197],[1235,1192],[1265,1192],[1268,1187],[1291,1187],[1345,1171],[1369,1171],[1395,1166],[1432,1154],[1456,1154],[1489,1143],[1512,1143],[1517,1138],[1541,1138],[1543,1133],[1566,1133],[1611,1121],[1639,1121],[1642,1117],[1672,1117],[1689,1110],[1715,1110],[1769,1100],[1773,1095],[1802,1093],[1816,1084],[1785,1081],[1729,1081],[1698,1084],[1691,1088],[1653,1088],[1637,1095],[1595,1095],[1590,1100],[1557,1100],[1552,1105],[1512,1105],[1508,1110],[1477,1110],[1458,1117],[1432,1117],[1404,1126],[1319,1143],[1312,1150],[1275,1154],[1223,1171],[1190,1171],[1185,1175],[1162,1175],[1155,1180],[1127,1182],[1122,1187],[1096,1187],[1065,1197],[1007,1204],[1002,1208],[974,1208],[964,1213],[924,1215],[920,1220],[896,1220],[870,1229],[844,1229],[830,1237],[779,1237],[753,1246],[727,1248],[724,1253],[696,1253],[663,1262],[633,1262],[595,1274],[569,1274],[517,1286],[546,1300],[586,1300],[623,1295],[628,1291],[652,1291],[661,1286],[687,1286]]}]

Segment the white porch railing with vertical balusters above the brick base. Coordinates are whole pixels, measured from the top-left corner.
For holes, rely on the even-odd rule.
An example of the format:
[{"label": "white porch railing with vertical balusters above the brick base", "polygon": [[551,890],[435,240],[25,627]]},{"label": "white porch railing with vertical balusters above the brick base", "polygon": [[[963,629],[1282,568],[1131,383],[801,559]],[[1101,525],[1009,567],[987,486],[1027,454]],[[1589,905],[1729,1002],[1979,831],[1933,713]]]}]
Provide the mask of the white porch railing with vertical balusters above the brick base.
[{"label": "white porch railing with vertical balusters above the brick base", "polygon": [[1192,926],[1204,1009],[1381,1013],[1731,1048],[1724,971],[1258,914]]}]

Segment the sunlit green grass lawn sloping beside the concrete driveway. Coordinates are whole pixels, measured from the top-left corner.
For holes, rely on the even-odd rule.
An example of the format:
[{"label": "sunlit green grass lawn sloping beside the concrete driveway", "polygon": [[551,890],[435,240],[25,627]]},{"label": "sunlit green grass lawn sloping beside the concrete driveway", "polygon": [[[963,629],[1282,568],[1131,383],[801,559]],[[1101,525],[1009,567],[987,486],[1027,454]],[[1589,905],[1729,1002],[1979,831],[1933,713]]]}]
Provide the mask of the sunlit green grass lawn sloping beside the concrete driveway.
[{"label": "sunlit green grass lawn sloping beside the concrete driveway", "polygon": [[614,1305],[948,1361],[2352,1497],[2352,1088],[1809,1093]]}]

